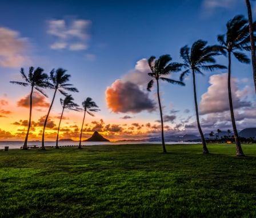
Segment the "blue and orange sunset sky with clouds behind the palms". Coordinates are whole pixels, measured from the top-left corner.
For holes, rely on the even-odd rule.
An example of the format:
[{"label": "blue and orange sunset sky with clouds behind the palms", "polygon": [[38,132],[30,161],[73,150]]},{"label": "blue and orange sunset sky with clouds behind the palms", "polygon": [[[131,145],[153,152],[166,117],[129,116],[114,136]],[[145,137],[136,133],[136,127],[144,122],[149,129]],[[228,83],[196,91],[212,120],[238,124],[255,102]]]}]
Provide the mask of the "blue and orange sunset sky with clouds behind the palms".
[{"label": "blue and orange sunset sky with clouds behind the palms", "polygon": [[[255,2],[251,2],[256,14]],[[235,15],[247,18],[242,0],[95,0],[1,1],[0,7],[0,140],[23,140],[29,120],[30,87],[20,70],[59,67],[70,74],[71,93],[82,105],[87,97],[99,106],[86,115],[83,139],[98,131],[111,141],[160,136],[156,87],[146,90],[150,77],[147,59],[169,54],[182,62],[181,47],[198,39],[217,44],[226,23]],[[255,16],[253,16],[255,19]],[[250,53],[247,53],[250,57]],[[227,66],[227,58],[218,56]],[[179,79],[181,72],[170,74]],[[251,64],[234,58],[231,86],[238,130],[256,127],[256,98]],[[199,135],[195,118],[192,77],[181,87],[160,83],[165,135]],[[196,76],[199,116],[204,134],[232,130],[227,97],[227,70]],[[33,95],[29,140],[41,140],[42,126],[53,90]],[[58,92],[47,122],[45,140],[55,140],[61,115]],[[59,138],[77,140],[83,112],[65,110]]]}]

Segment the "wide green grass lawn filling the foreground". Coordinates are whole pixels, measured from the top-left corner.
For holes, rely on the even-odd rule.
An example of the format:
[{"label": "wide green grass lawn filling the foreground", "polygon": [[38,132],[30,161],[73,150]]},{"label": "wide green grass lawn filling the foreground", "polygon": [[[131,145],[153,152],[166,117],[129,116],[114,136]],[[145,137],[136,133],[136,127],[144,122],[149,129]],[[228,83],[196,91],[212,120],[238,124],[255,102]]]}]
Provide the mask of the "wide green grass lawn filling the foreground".
[{"label": "wide green grass lawn filling the foreground", "polygon": [[0,151],[0,217],[256,217],[256,144]]}]

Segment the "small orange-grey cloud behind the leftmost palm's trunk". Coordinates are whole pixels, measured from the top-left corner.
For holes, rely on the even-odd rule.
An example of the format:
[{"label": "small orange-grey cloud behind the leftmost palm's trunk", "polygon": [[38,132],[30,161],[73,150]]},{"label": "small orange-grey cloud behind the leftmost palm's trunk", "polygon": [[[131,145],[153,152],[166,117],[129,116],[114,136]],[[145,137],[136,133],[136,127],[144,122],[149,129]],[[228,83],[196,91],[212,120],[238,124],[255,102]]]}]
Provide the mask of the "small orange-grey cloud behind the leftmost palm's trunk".
[{"label": "small orange-grey cloud behind the leftmost palm's trunk", "polygon": [[[32,103],[33,107],[49,107],[50,104],[45,101],[45,96],[40,95],[38,92],[33,92],[32,95]],[[18,107],[30,107],[30,94],[27,95],[25,98],[22,98],[18,101]]]}]

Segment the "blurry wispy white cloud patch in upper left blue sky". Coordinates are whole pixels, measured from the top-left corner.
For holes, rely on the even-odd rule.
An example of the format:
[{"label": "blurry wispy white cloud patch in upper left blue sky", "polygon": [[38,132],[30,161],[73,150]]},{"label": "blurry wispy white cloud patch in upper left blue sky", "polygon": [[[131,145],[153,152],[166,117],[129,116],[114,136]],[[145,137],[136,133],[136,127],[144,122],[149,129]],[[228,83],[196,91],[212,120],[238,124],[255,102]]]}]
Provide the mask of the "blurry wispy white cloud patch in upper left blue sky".
[{"label": "blurry wispy white cloud patch in upper left blue sky", "polygon": [[47,33],[53,35],[56,41],[51,44],[53,50],[68,49],[71,51],[88,49],[87,41],[90,39],[91,21],[78,19],[71,21],[70,25],[64,19],[49,21]]}]

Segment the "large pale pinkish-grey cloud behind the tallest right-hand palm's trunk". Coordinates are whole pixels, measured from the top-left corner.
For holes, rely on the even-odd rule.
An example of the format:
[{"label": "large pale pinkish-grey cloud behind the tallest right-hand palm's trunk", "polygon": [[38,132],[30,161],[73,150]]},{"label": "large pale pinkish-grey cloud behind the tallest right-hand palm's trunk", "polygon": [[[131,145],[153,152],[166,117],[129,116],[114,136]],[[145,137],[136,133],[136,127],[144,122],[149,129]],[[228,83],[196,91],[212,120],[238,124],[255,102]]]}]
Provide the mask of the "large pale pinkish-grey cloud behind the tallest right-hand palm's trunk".
[{"label": "large pale pinkish-grey cloud behind the tallest right-hand palm's trunk", "polygon": [[[205,94],[202,95],[202,100],[199,103],[200,114],[209,114],[214,112],[222,112],[229,110],[229,96],[227,94],[227,73],[210,76],[211,84]],[[247,87],[244,90],[238,90],[238,80],[231,78],[231,91],[233,99],[233,107],[250,107],[251,103],[246,100],[241,100],[246,97]]]}]

